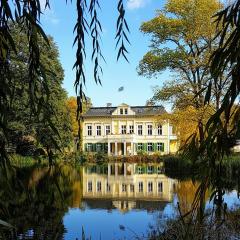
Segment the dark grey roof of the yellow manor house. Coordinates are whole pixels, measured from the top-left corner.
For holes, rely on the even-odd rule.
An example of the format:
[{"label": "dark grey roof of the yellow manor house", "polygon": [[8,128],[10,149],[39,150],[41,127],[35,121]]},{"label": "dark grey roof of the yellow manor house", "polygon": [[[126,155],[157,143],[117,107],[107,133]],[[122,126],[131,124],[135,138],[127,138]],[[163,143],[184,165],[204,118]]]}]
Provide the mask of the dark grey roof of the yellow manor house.
[{"label": "dark grey roof of the yellow manor house", "polygon": [[[83,115],[83,117],[110,117],[117,108],[118,107],[92,107]],[[135,112],[135,116],[153,116],[166,113],[163,106],[130,106],[130,108]],[[126,117],[128,115],[119,116]]]}]

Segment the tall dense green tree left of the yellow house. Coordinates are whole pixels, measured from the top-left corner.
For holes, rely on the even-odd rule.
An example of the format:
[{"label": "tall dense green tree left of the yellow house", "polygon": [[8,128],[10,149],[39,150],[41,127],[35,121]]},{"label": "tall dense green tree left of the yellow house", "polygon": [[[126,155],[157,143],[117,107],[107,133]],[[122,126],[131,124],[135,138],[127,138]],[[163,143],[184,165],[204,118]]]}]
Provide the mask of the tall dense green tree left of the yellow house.
[{"label": "tall dense green tree left of the yellow house", "polygon": [[[31,100],[28,97],[28,49],[26,29],[19,25],[11,25],[11,34],[14,38],[18,54],[11,53],[9,72],[12,81],[9,87],[12,92],[12,102],[9,106],[7,127],[12,129],[11,142],[15,144],[23,136],[32,136],[36,142],[50,151],[57,146],[64,148],[72,144],[70,117],[66,107],[67,94],[62,88],[64,72],[59,62],[56,44],[49,36],[49,46],[39,41],[41,62],[45,68],[46,84],[35,83],[35,94],[44,106],[38,109],[38,114],[31,112]],[[46,103],[47,100],[47,103]],[[39,105],[40,106],[40,105]],[[46,120],[48,119],[48,120]]]}]

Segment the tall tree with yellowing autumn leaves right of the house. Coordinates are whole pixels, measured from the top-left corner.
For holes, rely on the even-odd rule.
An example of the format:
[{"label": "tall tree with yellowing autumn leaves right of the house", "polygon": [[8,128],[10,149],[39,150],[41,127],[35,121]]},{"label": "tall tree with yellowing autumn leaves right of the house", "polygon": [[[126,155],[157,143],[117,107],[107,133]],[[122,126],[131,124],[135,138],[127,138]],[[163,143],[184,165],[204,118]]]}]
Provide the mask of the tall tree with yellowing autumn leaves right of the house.
[{"label": "tall tree with yellowing autumn leaves right of the house", "polygon": [[[152,101],[171,101],[174,107],[203,106],[212,80],[210,56],[219,44],[212,17],[222,7],[217,0],[168,0],[155,18],[142,24],[141,31],[152,39],[151,50],[139,64],[139,74],[151,77],[169,69],[176,76],[155,89]],[[224,78],[220,86],[212,87],[216,105],[225,86]]]}]

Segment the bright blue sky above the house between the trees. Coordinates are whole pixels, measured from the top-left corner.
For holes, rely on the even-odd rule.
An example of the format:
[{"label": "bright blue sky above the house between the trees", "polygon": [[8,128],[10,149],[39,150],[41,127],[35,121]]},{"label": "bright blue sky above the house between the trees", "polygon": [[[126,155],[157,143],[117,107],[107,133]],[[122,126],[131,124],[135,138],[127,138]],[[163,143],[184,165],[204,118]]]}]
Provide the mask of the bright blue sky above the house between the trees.
[{"label": "bright blue sky above the house between the trees", "polygon": [[[41,0],[45,2],[45,0]],[[47,10],[42,17],[42,25],[46,32],[52,35],[59,47],[60,61],[65,71],[64,88],[69,96],[74,96],[75,72],[72,66],[75,61],[75,49],[73,43],[73,27],[76,21],[75,1],[65,5],[65,1],[52,0],[51,10]],[[103,27],[102,51],[106,59],[103,63],[102,86],[96,85],[93,77],[93,65],[90,60],[86,62],[86,94],[91,98],[94,106],[105,106],[106,103],[118,105],[125,102],[129,105],[145,105],[146,100],[152,96],[152,86],[161,85],[169,79],[167,72],[157,78],[147,79],[137,74],[136,68],[148,50],[149,36],[139,31],[142,22],[155,16],[156,9],[163,7],[164,0],[126,0],[126,18],[130,27],[130,41],[128,46],[129,61],[116,60],[115,30],[117,20],[117,0],[102,0],[102,10],[99,12]],[[91,44],[87,45],[87,52],[91,53]],[[124,91],[118,92],[118,88],[124,86]]]}]

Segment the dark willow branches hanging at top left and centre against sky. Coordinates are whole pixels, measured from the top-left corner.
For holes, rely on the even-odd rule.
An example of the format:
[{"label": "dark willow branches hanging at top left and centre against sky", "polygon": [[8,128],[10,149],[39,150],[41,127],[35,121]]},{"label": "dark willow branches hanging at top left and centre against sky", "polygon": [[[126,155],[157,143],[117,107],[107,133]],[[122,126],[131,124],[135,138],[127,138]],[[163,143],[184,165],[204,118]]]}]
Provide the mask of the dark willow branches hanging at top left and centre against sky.
[{"label": "dark willow branches hanging at top left and centre against sky", "polygon": [[[72,0],[66,0],[66,3],[72,3]],[[50,9],[50,0],[46,0],[45,9]],[[98,10],[100,9],[99,0],[76,0],[77,20],[74,27],[75,38],[73,45],[77,47],[76,60],[73,68],[76,71],[75,90],[77,94],[77,119],[80,122],[83,110],[83,102],[86,101],[84,94],[84,85],[86,84],[86,74],[84,63],[87,58],[85,47],[85,36],[90,32],[92,38],[92,55],[91,59],[94,64],[93,75],[97,84],[101,84],[102,67],[101,60],[105,61],[101,51],[101,33],[102,27],[98,18]],[[119,17],[117,19],[117,34],[116,45],[118,49],[117,59],[123,56],[127,61],[126,42],[127,32],[129,28],[125,19],[125,9],[123,0],[119,0],[117,5]],[[44,89],[44,92],[49,93],[48,84],[46,81],[45,70],[40,61],[39,39],[48,38],[41,27],[41,9],[40,0],[0,0],[0,151],[1,156],[4,154],[5,144],[7,143],[7,135],[10,129],[7,128],[7,115],[11,107],[13,92],[11,84],[14,85],[14,79],[11,79],[9,74],[9,63],[11,62],[10,52],[16,54],[15,42],[10,31],[10,24],[17,23],[27,29],[29,46],[28,59],[28,85],[29,85],[29,104],[33,115],[38,115],[44,108],[48,108],[48,94],[39,96],[39,89]],[[87,21],[90,16],[90,22]],[[121,40],[121,44],[119,42]],[[38,90],[38,91],[37,91]],[[41,91],[40,91],[41,92]],[[45,111],[45,110],[44,110]],[[46,112],[46,111],[45,111]],[[46,114],[47,118],[47,114]],[[48,119],[46,119],[48,120]],[[49,120],[49,124],[54,129],[54,126]]]}]

